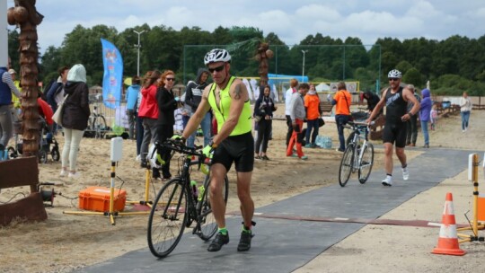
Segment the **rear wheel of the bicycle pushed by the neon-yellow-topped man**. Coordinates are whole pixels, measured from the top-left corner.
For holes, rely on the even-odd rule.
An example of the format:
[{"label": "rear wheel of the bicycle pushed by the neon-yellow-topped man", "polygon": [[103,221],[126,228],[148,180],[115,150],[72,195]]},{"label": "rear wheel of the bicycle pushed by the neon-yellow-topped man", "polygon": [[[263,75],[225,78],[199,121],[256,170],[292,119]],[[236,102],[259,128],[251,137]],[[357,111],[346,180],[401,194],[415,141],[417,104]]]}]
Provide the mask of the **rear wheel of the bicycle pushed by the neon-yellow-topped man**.
[{"label": "rear wheel of the bicycle pushed by the neon-yellow-topped man", "polygon": [[[200,194],[201,193],[199,193],[199,195]],[[214,236],[217,231],[216,218],[214,217],[214,214],[212,214],[209,194],[210,176],[206,175],[206,179],[204,180],[204,193],[200,195],[197,204],[198,225],[196,227],[196,232],[198,231],[198,236],[204,241],[209,240],[212,236]],[[227,179],[227,176],[225,176],[224,178],[222,194],[225,204],[227,204],[227,196],[229,194],[229,180]]]}]

